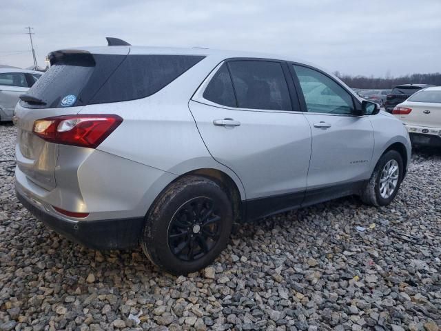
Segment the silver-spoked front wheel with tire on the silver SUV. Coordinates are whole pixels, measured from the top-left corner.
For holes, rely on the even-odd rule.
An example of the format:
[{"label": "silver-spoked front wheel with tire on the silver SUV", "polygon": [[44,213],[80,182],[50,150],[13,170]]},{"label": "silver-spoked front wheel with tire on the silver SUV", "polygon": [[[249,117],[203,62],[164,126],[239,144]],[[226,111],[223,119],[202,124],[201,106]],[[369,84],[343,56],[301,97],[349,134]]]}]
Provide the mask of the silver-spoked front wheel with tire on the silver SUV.
[{"label": "silver-spoked front wheel with tire on the silver SUV", "polygon": [[368,205],[389,205],[395,199],[402,181],[404,167],[396,150],[385,152],[362,191],[361,199]]}]

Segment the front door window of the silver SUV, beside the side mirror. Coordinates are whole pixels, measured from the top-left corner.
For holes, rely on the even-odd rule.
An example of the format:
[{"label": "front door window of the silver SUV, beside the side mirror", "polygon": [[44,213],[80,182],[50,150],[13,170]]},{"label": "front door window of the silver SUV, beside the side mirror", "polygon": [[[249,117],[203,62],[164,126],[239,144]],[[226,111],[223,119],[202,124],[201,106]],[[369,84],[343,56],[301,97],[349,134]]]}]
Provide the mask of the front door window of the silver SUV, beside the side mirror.
[{"label": "front door window of the silver SUV, beside the side mirror", "polygon": [[353,114],[351,94],[325,74],[303,66],[295,66],[308,112]]}]

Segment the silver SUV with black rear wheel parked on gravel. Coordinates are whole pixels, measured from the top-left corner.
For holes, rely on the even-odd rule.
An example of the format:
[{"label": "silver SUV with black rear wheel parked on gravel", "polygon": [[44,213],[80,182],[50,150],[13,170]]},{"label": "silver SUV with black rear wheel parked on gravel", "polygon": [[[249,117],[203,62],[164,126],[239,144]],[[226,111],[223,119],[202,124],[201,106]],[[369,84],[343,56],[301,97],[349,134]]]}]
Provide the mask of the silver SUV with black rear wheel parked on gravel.
[{"label": "silver SUV with black rear wheel parked on gravel", "polygon": [[65,237],[141,244],[185,274],[234,223],[396,197],[406,128],[333,75],[276,55],[119,44],[52,52],[16,108],[17,196]]}]

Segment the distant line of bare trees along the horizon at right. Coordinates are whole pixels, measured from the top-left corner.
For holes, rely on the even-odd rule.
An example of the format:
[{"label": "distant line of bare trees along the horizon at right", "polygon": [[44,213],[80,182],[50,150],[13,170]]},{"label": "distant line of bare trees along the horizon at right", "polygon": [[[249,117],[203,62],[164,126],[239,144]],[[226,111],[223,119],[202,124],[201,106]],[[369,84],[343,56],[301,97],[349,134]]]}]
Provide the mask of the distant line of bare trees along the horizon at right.
[{"label": "distant line of bare trees along the horizon at right", "polygon": [[349,74],[334,74],[351,88],[390,89],[401,84],[430,84],[441,86],[441,73],[434,74],[408,74],[402,77],[375,78],[365,76],[350,76]]}]

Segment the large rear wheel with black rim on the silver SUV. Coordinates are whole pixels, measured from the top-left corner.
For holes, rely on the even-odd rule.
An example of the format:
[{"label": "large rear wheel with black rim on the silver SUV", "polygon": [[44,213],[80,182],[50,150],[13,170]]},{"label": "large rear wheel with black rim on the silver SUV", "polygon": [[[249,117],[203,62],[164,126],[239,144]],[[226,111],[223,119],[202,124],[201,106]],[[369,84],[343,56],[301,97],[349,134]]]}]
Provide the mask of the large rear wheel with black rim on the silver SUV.
[{"label": "large rear wheel with black rim on the silver SUV", "polygon": [[205,177],[183,177],[153,203],[141,247],[163,270],[195,272],[212,263],[226,247],[232,224],[232,203],[217,183]]}]

